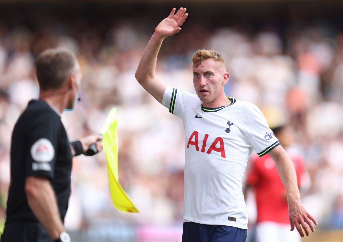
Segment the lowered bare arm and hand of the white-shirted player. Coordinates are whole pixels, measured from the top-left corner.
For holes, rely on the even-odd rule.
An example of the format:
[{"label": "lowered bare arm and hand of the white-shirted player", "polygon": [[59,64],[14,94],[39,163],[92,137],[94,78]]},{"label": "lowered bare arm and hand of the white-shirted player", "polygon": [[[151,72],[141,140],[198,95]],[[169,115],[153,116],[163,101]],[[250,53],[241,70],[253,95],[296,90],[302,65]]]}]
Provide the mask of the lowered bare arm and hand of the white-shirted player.
[{"label": "lowered bare arm and hand of the white-shirted player", "polygon": [[316,219],[307,212],[303,204],[301,204],[297,176],[295,173],[293,162],[281,146],[275,147],[274,149],[269,151],[268,154],[271,158],[273,158],[277,171],[279,172],[281,181],[286,188],[289,221],[291,222],[291,231],[293,231],[295,227],[301,235],[301,237],[304,237],[304,233],[301,230],[302,226],[305,230],[306,235],[308,236],[310,232],[306,223],[311,228],[312,232],[315,232],[315,228],[311,220],[316,225],[318,223]]}]

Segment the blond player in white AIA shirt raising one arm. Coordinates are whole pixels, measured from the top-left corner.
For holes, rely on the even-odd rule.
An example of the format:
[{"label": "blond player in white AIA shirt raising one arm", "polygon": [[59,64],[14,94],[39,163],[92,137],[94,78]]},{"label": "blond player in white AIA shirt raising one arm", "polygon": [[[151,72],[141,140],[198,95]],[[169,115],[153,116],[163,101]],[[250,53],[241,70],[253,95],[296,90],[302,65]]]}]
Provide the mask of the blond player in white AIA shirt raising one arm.
[{"label": "blond player in white AIA shirt raising one arm", "polygon": [[[301,204],[293,163],[272,137],[261,111],[252,103],[226,97],[229,79],[223,57],[213,50],[198,50],[193,58],[193,84],[197,95],[167,87],[156,79],[157,54],[163,39],[181,30],[185,8],[175,9],[155,28],[135,77],[158,102],[184,123],[185,209],[182,241],[246,240],[247,211],[242,180],[252,150],[275,161],[286,187],[291,229],[304,237],[315,231],[313,218]],[[308,224],[308,225],[307,225]]]}]

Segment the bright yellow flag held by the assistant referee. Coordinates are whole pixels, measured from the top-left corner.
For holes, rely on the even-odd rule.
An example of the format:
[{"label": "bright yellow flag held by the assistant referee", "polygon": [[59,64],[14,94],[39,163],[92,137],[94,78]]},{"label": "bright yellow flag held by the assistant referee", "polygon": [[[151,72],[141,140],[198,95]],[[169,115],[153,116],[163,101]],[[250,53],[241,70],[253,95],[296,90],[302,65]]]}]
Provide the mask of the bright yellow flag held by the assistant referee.
[{"label": "bright yellow flag held by the assistant referee", "polygon": [[106,155],[111,198],[113,205],[119,210],[124,212],[139,212],[118,181],[117,113],[117,109],[112,108],[100,130],[100,134],[104,136],[102,144]]}]

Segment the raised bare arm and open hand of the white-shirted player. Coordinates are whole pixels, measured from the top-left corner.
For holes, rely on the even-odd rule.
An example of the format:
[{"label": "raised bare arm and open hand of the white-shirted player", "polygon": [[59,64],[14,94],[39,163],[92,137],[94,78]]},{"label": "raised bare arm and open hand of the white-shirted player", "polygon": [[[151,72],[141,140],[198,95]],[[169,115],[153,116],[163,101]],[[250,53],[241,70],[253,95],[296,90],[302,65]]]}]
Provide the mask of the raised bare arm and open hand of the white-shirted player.
[{"label": "raised bare arm and open hand of the white-shirted player", "polygon": [[185,21],[188,15],[185,12],[185,8],[180,8],[174,15],[174,8],[171,10],[169,16],[157,25],[154,34],[143,52],[135,73],[137,81],[160,103],[162,103],[163,93],[165,92],[167,85],[155,77],[158,51],[161,48],[165,37],[174,35],[181,30],[180,25]]}]

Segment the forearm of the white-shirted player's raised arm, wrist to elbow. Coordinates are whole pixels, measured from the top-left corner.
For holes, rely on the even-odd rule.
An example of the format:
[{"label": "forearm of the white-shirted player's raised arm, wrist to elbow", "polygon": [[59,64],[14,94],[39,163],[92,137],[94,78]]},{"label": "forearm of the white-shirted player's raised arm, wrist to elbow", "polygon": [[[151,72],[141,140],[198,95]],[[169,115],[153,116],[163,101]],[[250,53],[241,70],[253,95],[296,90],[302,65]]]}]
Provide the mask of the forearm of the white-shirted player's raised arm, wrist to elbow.
[{"label": "forearm of the white-shirted player's raised arm, wrist to elbow", "polygon": [[161,48],[163,39],[164,38],[159,37],[155,33],[151,36],[135,73],[135,78],[138,82],[146,82],[155,78],[157,55]]}]

